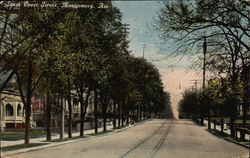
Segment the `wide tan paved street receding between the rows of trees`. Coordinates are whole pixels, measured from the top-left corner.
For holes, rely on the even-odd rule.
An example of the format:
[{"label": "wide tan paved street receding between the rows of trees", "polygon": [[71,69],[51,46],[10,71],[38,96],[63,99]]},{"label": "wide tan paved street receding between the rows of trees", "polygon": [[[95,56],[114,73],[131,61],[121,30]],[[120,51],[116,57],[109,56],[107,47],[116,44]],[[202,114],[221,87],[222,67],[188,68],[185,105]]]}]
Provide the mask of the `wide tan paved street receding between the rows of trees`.
[{"label": "wide tan paved street receding between the rows of trees", "polygon": [[246,148],[219,139],[188,120],[153,120],[11,158],[246,158],[248,154]]}]

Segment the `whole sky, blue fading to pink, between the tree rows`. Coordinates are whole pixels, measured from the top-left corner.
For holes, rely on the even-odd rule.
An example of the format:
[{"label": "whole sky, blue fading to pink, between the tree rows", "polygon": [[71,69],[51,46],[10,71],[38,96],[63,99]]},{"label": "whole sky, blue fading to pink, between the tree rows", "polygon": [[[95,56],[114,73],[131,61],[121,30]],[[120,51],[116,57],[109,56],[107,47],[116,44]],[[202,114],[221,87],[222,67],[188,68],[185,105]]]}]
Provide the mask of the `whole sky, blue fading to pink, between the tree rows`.
[{"label": "whole sky, blue fading to pink, between the tree rows", "polygon": [[[191,62],[187,58],[179,61],[179,58],[166,58],[168,52],[160,53],[163,45],[160,44],[159,33],[154,30],[153,23],[162,3],[157,1],[113,1],[112,3],[123,14],[123,23],[130,24],[128,39],[132,54],[142,57],[142,47],[145,43],[144,57],[159,69],[164,90],[170,93],[173,113],[177,118],[177,105],[182,93],[194,86],[194,80],[201,80],[201,72],[191,69]],[[168,43],[164,47],[168,47]],[[197,86],[198,88],[201,86],[200,82]]]}]

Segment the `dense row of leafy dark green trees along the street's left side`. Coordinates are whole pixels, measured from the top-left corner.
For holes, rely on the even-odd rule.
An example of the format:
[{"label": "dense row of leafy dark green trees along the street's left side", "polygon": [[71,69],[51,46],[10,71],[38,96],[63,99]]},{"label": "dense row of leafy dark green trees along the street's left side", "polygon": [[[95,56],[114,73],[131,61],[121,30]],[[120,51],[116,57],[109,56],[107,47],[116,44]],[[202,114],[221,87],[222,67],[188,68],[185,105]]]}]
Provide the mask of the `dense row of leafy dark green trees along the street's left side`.
[{"label": "dense row of leafy dark green trees along the street's left side", "polygon": [[[120,128],[129,124],[129,119],[150,118],[152,113],[158,115],[170,107],[158,70],[128,51],[122,14],[110,1],[102,3],[108,8],[98,8],[98,1],[74,2],[93,5],[92,9],[1,4],[0,73],[7,77],[0,92],[14,77],[25,106],[25,144],[29,143],[32,97],[36,92],[46,96],[47,140],[51,140],[53,109],[61,111],[63,117],[62,102],[55,101],[60,98],[68,102],[68,137],[72,137],[73,94],[80,102],[80,136],[84,136],[91,93],[95,96],[95,132],[98,118],[103,119],[106,131],[108,116],[113,118],[114,128]],[[107,113],[108,106],[113,106],[112,114]]]}]

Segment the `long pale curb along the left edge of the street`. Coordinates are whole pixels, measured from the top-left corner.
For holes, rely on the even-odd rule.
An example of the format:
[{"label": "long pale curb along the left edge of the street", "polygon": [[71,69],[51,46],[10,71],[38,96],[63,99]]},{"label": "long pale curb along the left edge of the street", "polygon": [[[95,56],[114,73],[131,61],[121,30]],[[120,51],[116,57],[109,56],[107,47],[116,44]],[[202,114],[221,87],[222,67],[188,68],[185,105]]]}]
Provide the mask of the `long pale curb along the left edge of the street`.
[{"label": "long pale curb along the left edge of the street", "polygon": [[[26,153],[26,152],[32,152],[32,151],[36,151],[36,150],[41,150],[41,149],[45,149],[45,148],[49,148],[49,147],[54,147],[54,146],[79,142],[79,141],[83,141],[83,140],[90,140],[90,139],[94,139],[94,138],[98,138],[98,137],[104,137],[104,136],[107,136],[107,135],[111,135],[111,134],[114,134],[114,133],[124,131],[126,129],[131,128],[131,127],[135,127],[135,126],[147,123],[147,122],[152,121],[152,120],[154,120],[154,119],[143,120],[142,122],[135,123],[135,124],[133,124],[131,126],[127,126],[127,127],[121,128],[121,129],[114,130],[113,132],[104,133],[104,134],[97,135],[97,136],[89,136],[89,137],[79,138],[79,139],[75,139],[75,140],[67,140],[67,141],[64,141],[64,142],[49,142],[50,144],[47,144],[47,145],[41,145],[41,146],[37,146],[37,147],[30,147],[30,148],[24,148],[24,149],[18,149],[18,150],[15,150],[15,151],[6,151],[6,152],[4,152],[4,151],[1,152],[0,151],[0,158],[4,158],[4,157],[8,158],[7,156],[11,156],[11,155],[17,155],[17,154],[22,154],[22,153]],[[46,142],[39,142],[39,143],[46,144]]]}]

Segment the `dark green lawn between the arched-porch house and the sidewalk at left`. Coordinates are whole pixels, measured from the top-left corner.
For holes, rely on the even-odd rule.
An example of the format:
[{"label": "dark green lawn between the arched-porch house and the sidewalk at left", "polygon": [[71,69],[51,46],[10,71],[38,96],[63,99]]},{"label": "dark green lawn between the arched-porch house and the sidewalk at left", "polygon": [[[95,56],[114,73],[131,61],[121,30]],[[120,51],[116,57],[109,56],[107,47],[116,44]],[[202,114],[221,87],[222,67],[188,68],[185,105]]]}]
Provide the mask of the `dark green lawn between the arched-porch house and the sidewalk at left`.
[{"label": "dark green lawn between the arched-porch house and the sidewalk at left", "polygon": [[[41,137],[44,136],[44,132],[30,132],[30,137],[35,138],[35,137]],[[22,140],[24,139],[24,132],[3,132],[0,135],[1,140],[5,141],[14,141],[14,140]]]}]

